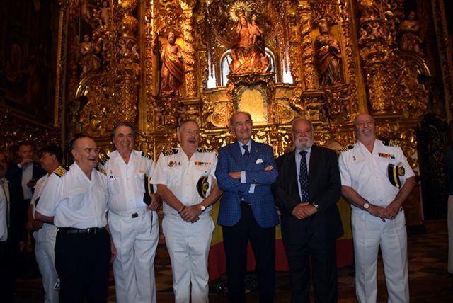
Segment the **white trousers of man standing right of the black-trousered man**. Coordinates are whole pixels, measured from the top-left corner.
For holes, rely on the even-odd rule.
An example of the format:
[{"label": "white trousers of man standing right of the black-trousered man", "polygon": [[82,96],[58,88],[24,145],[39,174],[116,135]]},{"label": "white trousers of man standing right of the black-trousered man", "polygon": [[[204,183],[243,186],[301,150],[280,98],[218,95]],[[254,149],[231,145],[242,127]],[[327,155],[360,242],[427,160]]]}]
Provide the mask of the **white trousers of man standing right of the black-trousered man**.
[{"label": "white trousers of man standing right of the black-trousered man", "polygon": [[108,226],[116,247],[113,275],[118,303],[156,303],[154,257],[159,219],[156,212],[138,213],[133,218],[108,212]]}]

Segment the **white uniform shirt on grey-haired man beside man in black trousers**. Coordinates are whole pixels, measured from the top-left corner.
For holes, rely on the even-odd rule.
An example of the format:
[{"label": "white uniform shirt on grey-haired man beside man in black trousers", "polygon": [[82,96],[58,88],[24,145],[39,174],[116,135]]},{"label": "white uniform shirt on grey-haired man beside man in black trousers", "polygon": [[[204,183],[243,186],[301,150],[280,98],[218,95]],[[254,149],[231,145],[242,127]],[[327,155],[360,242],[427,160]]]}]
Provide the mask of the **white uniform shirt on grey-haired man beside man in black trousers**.
[{"label": "white uniform shirt on grey-haired man beside man in black trousers", "polygon": [[136,150],[132,151],[127,164],[118,151],[108,156],[110,159],[102,166],[108,178],[108,209],[124,212],[147,207],[143,202],[144,175],[152,176],[153,161]]}]

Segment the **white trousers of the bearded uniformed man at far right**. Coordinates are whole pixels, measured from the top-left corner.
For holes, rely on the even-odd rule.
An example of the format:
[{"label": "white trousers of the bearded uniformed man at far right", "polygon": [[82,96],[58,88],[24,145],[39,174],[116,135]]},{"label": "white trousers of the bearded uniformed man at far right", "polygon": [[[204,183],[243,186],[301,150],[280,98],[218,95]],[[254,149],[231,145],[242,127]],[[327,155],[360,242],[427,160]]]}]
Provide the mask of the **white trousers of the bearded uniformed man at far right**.
[{"label": "white trousers of the bearded uniformed man at far right", "polygon": [[382,219],[364,210],[352,210],[355,253],[355,290],[359,302],[376,302],[377,253],[381,246],[390,303],[409,302],[407,233],[404,212]]}]

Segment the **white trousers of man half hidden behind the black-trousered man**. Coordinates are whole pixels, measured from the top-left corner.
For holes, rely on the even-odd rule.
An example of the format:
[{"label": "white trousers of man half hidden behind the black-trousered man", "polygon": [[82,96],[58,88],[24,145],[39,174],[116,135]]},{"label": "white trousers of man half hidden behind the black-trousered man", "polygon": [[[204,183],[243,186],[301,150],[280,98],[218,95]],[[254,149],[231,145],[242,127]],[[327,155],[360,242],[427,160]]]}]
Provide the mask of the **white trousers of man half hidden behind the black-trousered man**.
[{"label": "white trousers of man half hidden behind the black-trousered man", "polygon": [[44,288],[45,303],[58,303],[58,291],[54,290],[57,282],[57,270],[55,270],[55,238],[57,227],[52,224],[42,224],[42,228],[33,233],[35,238],[35,256],[38,268],[42,275],[42,287]]}]

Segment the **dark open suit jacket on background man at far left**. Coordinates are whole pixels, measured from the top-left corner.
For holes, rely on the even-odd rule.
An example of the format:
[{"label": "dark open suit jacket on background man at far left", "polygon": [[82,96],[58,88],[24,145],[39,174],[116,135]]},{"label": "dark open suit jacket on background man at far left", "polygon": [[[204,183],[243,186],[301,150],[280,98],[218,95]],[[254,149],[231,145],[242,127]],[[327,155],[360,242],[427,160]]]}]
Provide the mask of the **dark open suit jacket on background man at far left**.
[{"label": "dark open suit jacket on background man at far left", "polygon": [[[46,173],[38,162],[33,161],[33,173],[32,178],[38,180]],[[8,171],[5,174],[8,179],[9,188],[9,199],[10,199],[10,231],[8,233],[8,239],[14,241],[25,241],[27,239],[27,230],[25,224],[27,224],[27,210],[28,203],[23,200],[22,190],[22,168],[17,164],[11,164]],[[33,191],[33,189],[32,189]]]}]

